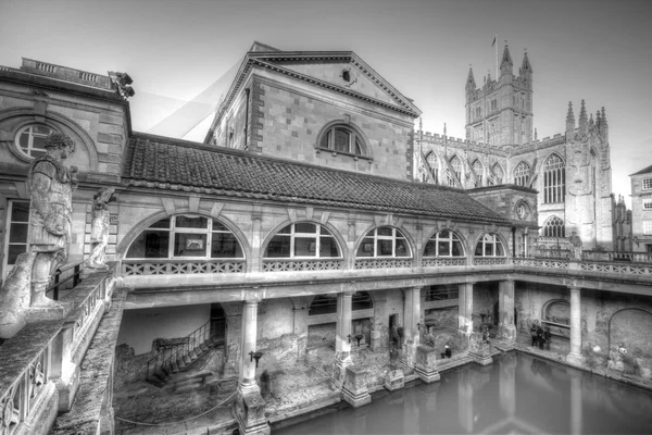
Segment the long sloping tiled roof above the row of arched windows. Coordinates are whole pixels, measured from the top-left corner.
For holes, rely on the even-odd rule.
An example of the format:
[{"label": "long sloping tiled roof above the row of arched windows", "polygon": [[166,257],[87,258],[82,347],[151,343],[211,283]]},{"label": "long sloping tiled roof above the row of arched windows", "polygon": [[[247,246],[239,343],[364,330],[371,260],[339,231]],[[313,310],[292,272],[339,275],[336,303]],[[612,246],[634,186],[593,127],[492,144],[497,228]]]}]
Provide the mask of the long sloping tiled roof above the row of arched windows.
[{"label": "long sloping tiled roof above the row of arched windows", "polygon": [[125,162],[123,178],[131,186],[497,224],[509,222],[459,189],[159,136],[130,137]]}]

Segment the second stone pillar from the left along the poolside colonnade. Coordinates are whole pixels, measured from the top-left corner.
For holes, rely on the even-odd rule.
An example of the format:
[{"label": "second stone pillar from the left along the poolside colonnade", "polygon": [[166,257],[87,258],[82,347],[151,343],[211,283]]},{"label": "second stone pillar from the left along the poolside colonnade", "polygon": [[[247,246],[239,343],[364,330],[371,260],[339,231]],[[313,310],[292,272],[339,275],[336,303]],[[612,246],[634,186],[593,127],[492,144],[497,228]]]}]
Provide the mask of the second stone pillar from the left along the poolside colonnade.
[{"label": "second stone pillar from the left along the poolside colonnade", "polygon": [[351,300],[354,291],[343,291],[337,295],[337,323],[335,326],[335,362],[330,386],[341,389],[347,366],[351,365]]}]

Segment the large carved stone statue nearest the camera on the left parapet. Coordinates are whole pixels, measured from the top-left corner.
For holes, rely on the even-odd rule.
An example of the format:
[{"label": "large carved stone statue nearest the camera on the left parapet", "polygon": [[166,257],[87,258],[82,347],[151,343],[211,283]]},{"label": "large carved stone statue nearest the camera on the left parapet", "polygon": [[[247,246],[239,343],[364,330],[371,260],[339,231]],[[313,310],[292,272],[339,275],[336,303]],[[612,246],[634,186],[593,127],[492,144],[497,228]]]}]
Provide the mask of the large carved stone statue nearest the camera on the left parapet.
[{"label": "large carved stone statue nearest the camera on the left parapet", "polygon": [[75,174],[63,165],[75,144],[62,133],[46,138],[46,156],[29,165],[27,187],[30,194],[27,243],[29,251],[16,259],[0,290],[0,337],[8,338],[25,324],[29,307],[60,307],[46,296],[51,275],[65,261],[72,229]]}]

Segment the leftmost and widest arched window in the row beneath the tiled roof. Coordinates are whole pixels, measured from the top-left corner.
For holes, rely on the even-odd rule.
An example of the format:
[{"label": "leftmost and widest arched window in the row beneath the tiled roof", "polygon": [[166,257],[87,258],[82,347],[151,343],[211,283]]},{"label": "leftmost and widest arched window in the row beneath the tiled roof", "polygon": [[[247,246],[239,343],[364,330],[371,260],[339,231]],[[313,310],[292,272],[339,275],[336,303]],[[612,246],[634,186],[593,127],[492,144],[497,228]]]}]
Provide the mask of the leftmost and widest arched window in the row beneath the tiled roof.
[{"label": "leftmost and widest arched window in the row beneath the tiled roof", "polygon": [[242,247],[224,224],[204,216],[178,214],[162,219],[136,237],[128,259],[242,259]]}]

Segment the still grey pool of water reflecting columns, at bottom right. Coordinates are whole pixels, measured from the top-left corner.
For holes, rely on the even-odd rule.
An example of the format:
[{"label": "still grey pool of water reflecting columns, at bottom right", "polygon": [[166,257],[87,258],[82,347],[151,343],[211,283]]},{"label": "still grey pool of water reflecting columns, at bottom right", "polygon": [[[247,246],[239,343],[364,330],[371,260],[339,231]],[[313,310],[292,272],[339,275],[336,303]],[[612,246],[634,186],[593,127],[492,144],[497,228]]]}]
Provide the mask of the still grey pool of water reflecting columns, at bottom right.
[{"label": "still grey pool of water reflecting columns, at bottom right", "polygon": [[652,393],[519,352],[273,434],[650,434]]}]

